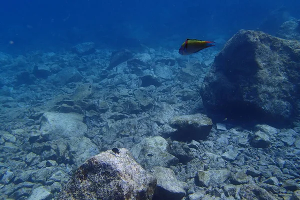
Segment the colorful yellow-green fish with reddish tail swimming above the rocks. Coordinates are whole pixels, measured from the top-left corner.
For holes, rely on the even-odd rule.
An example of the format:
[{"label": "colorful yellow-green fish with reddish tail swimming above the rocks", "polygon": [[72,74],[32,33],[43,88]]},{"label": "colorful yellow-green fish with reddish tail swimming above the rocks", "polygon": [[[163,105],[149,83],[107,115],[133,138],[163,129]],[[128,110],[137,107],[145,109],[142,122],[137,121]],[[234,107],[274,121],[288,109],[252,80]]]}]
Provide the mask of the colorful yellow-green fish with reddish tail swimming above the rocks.
[{"label": "colorful yellow-green fish with reddish tail swimming above the rocks", "polygon": [[181,44],[179,48],[179,53],[181,55],[190,55],[192,53],[196,53],[199,50],[207,48],[209,46],[214,46],[214,41],[203,41],[199,39],[185,39],[185,41]]}]

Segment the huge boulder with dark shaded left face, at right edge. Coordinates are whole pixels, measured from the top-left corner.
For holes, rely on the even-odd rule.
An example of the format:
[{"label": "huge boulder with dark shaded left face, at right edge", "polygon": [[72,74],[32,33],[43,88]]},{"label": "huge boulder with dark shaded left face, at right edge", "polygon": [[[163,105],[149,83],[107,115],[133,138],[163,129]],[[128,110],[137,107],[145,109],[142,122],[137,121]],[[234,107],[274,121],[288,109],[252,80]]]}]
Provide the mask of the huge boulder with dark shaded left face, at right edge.
[{"label": "huge boulder with dark shaded left face, at right edge", "polygon": [[216,55],[200,94],[219,119],[286,122],[300,109],[300,42],[240,30]]}]

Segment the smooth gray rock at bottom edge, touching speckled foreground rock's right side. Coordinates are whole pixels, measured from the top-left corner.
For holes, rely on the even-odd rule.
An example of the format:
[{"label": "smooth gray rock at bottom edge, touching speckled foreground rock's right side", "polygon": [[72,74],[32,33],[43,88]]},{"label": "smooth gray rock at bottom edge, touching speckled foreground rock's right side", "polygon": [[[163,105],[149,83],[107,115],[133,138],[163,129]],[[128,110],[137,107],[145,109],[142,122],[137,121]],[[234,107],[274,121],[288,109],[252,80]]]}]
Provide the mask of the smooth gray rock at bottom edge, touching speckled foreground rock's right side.
[{"label": "smooth gray rock at bottom edge, touching speckled foreground rock's right side", "polygon": [[185,196],[181,183],[176,179],[174,171],[161,166],[154,166],[151,172],[157,179],[153,198],[155,199],[181,199]]}]

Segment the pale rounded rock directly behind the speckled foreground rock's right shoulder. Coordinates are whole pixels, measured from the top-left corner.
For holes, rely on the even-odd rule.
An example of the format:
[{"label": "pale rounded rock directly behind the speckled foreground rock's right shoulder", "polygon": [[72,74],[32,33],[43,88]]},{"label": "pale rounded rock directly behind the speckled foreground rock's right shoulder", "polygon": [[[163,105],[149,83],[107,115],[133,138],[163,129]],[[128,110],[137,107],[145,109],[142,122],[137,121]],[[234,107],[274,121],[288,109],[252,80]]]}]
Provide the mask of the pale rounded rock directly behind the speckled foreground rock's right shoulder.
[{"label": "pale rounded rock directly behind the speckled foreground rock's right shoulder", "polygon": [[153,166],[170,167],[178,162],[178,158],[168,153],[170,146],[160,136],[144,138],[130,151],[135,160],[146,169]]}]

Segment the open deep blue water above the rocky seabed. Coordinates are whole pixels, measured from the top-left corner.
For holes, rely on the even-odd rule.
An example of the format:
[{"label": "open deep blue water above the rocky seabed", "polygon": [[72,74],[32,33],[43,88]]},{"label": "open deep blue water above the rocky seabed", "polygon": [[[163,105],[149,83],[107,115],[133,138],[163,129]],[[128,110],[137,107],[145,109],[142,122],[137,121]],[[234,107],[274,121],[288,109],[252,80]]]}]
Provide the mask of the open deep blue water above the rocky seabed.
[{"label": "open deep blue water above the rocky seabed", "polygon": [[228,39],[239,29],[261,29],[280,7],[300,18],[300,0],[2,0],[0,50],[67,49],[83,41],[178,48],[186,37]]}]

